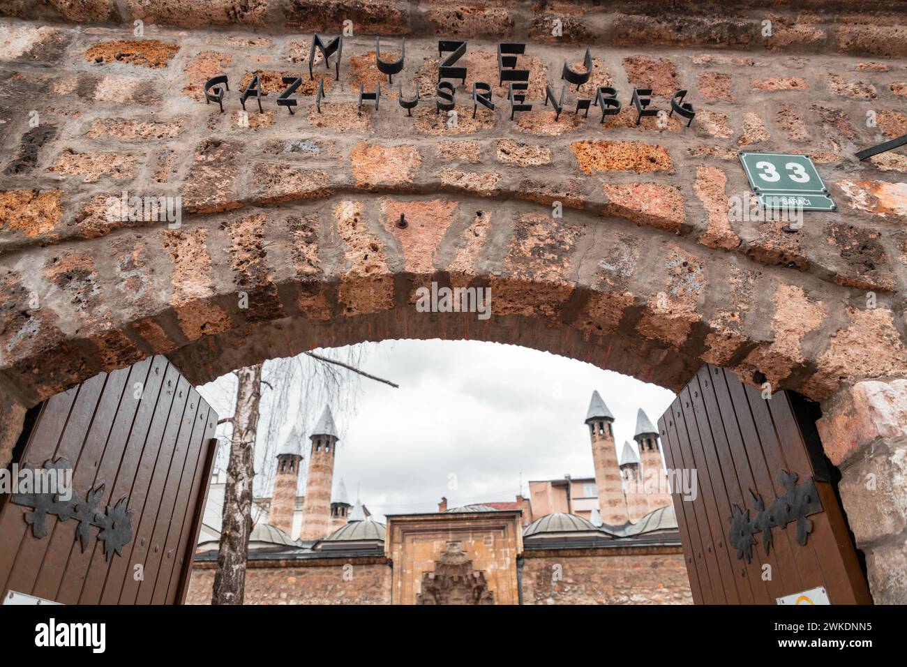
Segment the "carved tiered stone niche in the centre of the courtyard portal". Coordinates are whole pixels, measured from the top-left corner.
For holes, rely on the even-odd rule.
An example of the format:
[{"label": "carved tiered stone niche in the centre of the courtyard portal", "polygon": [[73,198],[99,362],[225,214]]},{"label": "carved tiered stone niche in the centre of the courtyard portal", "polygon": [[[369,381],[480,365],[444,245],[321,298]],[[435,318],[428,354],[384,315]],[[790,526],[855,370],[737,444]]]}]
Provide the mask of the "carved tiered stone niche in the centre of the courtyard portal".
[{"label": "carved tiered stone niche in the centre of the courtyard portal", "polygon": [[422,593],[416,604],[493,604],[485,573],[473,569],[473,561],[459,542],[448,542],[434,562],[434,572],[422,575]]}]

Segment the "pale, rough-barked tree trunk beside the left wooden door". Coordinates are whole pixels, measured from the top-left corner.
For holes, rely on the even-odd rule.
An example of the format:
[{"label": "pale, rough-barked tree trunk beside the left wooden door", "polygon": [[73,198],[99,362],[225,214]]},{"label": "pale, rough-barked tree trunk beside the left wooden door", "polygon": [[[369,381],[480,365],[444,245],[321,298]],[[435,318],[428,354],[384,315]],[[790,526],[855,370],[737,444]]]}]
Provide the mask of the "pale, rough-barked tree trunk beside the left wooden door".
[{"label": "pale, rough-barked tree trunk beside the left wooden door", "polygon": [[252,477],[255,476],[255,435],[261,400],[261,364],[237,372],[236,411],[224,487],[218,569],[212,604],[242,604],[246,588],[246,556],[252,528]]}]

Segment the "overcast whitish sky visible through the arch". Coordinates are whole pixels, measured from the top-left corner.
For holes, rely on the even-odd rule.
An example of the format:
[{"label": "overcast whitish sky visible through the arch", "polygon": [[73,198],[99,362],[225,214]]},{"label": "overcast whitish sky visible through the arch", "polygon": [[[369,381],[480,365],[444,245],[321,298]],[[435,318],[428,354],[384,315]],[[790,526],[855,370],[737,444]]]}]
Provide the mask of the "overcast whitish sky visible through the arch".
[{"label": "overcast whitish sky visible through the arch", "polygon": [[[667,389],[634,378],[496,343],[385,340],[356,351],[363,370],[400,385],[362,379],[355,412],[347,407],[335,414],[343,436],[335,487],[342,477],[350,502],[358,489],[374,515],[437,511],[442,496],[451,506],[512,501],[521,480],[525,494],[529,480],[593,476],[583,424],[593,389],[616,418],[618,446],[632,441],[639,407],[655,423],[674,400]],[[235,380],[225,377],[200,391],[223,417],[233,387]],[[299,401],[298,393],[289,397],[291,405]],[[292,417],[266,409],[262,418],[272,417],[282,440]],[[229,438],[229,427],[218,435]],[[259,476],[272,474],[279,444],[263,439],[257,444]],[[265,458],[271,469],[263,470]]]}]

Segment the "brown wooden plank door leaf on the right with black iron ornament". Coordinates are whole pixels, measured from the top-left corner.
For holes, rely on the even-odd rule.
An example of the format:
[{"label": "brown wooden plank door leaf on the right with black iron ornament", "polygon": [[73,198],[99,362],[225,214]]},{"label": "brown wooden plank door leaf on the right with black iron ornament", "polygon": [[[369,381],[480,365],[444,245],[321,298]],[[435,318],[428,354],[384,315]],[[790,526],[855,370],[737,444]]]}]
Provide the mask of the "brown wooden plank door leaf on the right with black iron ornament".
[{"label": "brown wooden plank door leaf on the right with black iron ornament", "polygon": [[774,604],[823,587],[833,604],[871,603],[813,404],[770,396],[706,365],[658,420],[668,471],[697,471],[695,499],[672,489],[694,602]]}]

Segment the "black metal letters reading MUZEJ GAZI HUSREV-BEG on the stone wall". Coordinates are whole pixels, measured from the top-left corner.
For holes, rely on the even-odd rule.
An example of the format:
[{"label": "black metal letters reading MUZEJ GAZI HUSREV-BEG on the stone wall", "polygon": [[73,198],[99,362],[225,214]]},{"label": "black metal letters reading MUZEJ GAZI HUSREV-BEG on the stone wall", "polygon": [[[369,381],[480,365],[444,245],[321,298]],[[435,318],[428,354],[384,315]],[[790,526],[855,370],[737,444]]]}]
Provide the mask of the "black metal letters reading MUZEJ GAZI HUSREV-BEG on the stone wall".
[{"label": "black metal letters reading MUZEJ GAZI HUSREV-BEG on the stone wall", "polygon": [[[317,52],[320,52],[324,57],[325,66],[327,69],[330,69],[330,58],[335,57],[334,61],[334,75],[337,81],[340,79],[340,57],[343,54],[343,35],[337,35],[334,39],[331,39],[327,42],[321,39],[318,34],[312,35],[312,44],[311,48],[308,51],[308,76],[309,79],[315,78],[315,73],[313,71],[313,66],[315,64],[315,55]],[[389,83],[394,83],[394,74],[398,74],[403,71],[404,61],[406,57],[406,40],[403,40],[401,48],[400,58],[395,61],[385,61],[381,59],[381,38],[375,37],[375,64],[377,65],[378,70],[382,74],[387,74]],[[510,119],[513,120],[513,115],[518,112],[528,112],[532,111],[532,103],[526,102],[526,95],[529,90],[529,70],[522,69],[518,67],[519,56],[526,53],[526,44],[519,42],[500,42],[497,47],[498,52],[498,85],[503,85],[504,82],[507,83],[507,100],[510,103]],[[441,58],[440,64],[438,64],[438,82],[436,86],[437,99],[435,100],[435,113],[447,112],[448,114],[452,113],[454,107],[456,106],[456,88],[453,83],[447,81],[448,79],[460,79],[463,85],[466,84],[466,73],[467,68],[459,65],[460,59],[466,53],[466,42],[462,40],[439,40],[438,41],[438,56]],[[573,70],[568,63],[564,63],[563,69],[561,70],[561,79],[567,83],[576,85],[577,90],[580,90],[580,86],[583,83],[587,83],[590,80],[592,75],[592,55],[590,54],[589,49],[586,49],[586,54],[583,57],[583,67],[582,70],[577,72]],[[282,82],[287,85],[287,88],[284,89],[282,93],[278,95],[277,103],[279,106],[287,107],[287,111],[290,115],[293,114],[293,107],[297,106],[297,99],[293,97],[296,93],[298,87],[302,84],[302,79],[298,76],[284,76],[281,77]],[[561,111],[564,108],[564,92],[566,90],[566,84],[561,85],[561,93],[555,94],[554,89],[551,88],[551,85],[545,86],[545,106],[548,103],[551,103],[554,112],[556,113],[555,119],[561,120]],[[205,83],[205,103],[218,103],[220,107],[220,113],[223,113],[223,100],[225,89],[229,91],[229,82],[227,80],[226,74],[220,74],[210,78]],[[262,83],[261,77],[258,74],[252,76],[252,81],[246,87],[245,90],[239,93],[239,103],[242,104],[243,110],[246,109],[246,101],[249,100],[249,97],[255,99],[258,103],[258,113],[263,113],[261,107],[261,96]],[[693,122],[693,118],[696,116],[696,110],[693,108],[693,105],[688,102],[684,102],[684,97],[687,95],[686,90],[678,90],[671,96],[670,104],[671,110],[670,113],[665,113],[663,110],[656,109],[651,106],[651,88],[634,88],[632,97],[630,98],[630,103],[636,108],[637,118],[636,124],[639,125],[643,116],[659,116],[659,118],[665,118],[678,113],[679,116],[686,118],[688,120],[687,125]],[[324,78],[319,77],[318,88],[315,97],[316,107],[318,113],[321,113],[321,100],[326,96],[325,87],[324,87]],[[363,83],[359,83],[359,99],[358,107],[361,109],[363,104],[374,103],[375,111],[378,110],[378,106],[381,100],[381,84],[377,83],[375,85],[374,91],[366,91]],[[473,83],[473,118],[475,113],[481,104],[483,107],[489,110],[494,110],[495,102],[492,96],[492,86],[490,83],[477,81]],[[403,84],[400,83],[400,95],[397,99],[397,102],[401,107],[406,109],[407,115],[412,115],[413,109],[419,103],[419,88],[416,85],[414,91],[414,97],[405,98],[403,93]],[[605,119],[609,116],[614,116],[620,113],[622,104],[617,98],[617,90],[611,88],[610,86],[599,86],[595,90],[594,99],[591,97],[578,97],[575,101],[574,115],[584,112],[584,117],[589,117],[590,106],[597,106],[601,112],[601,123],[605,123]]]}]

